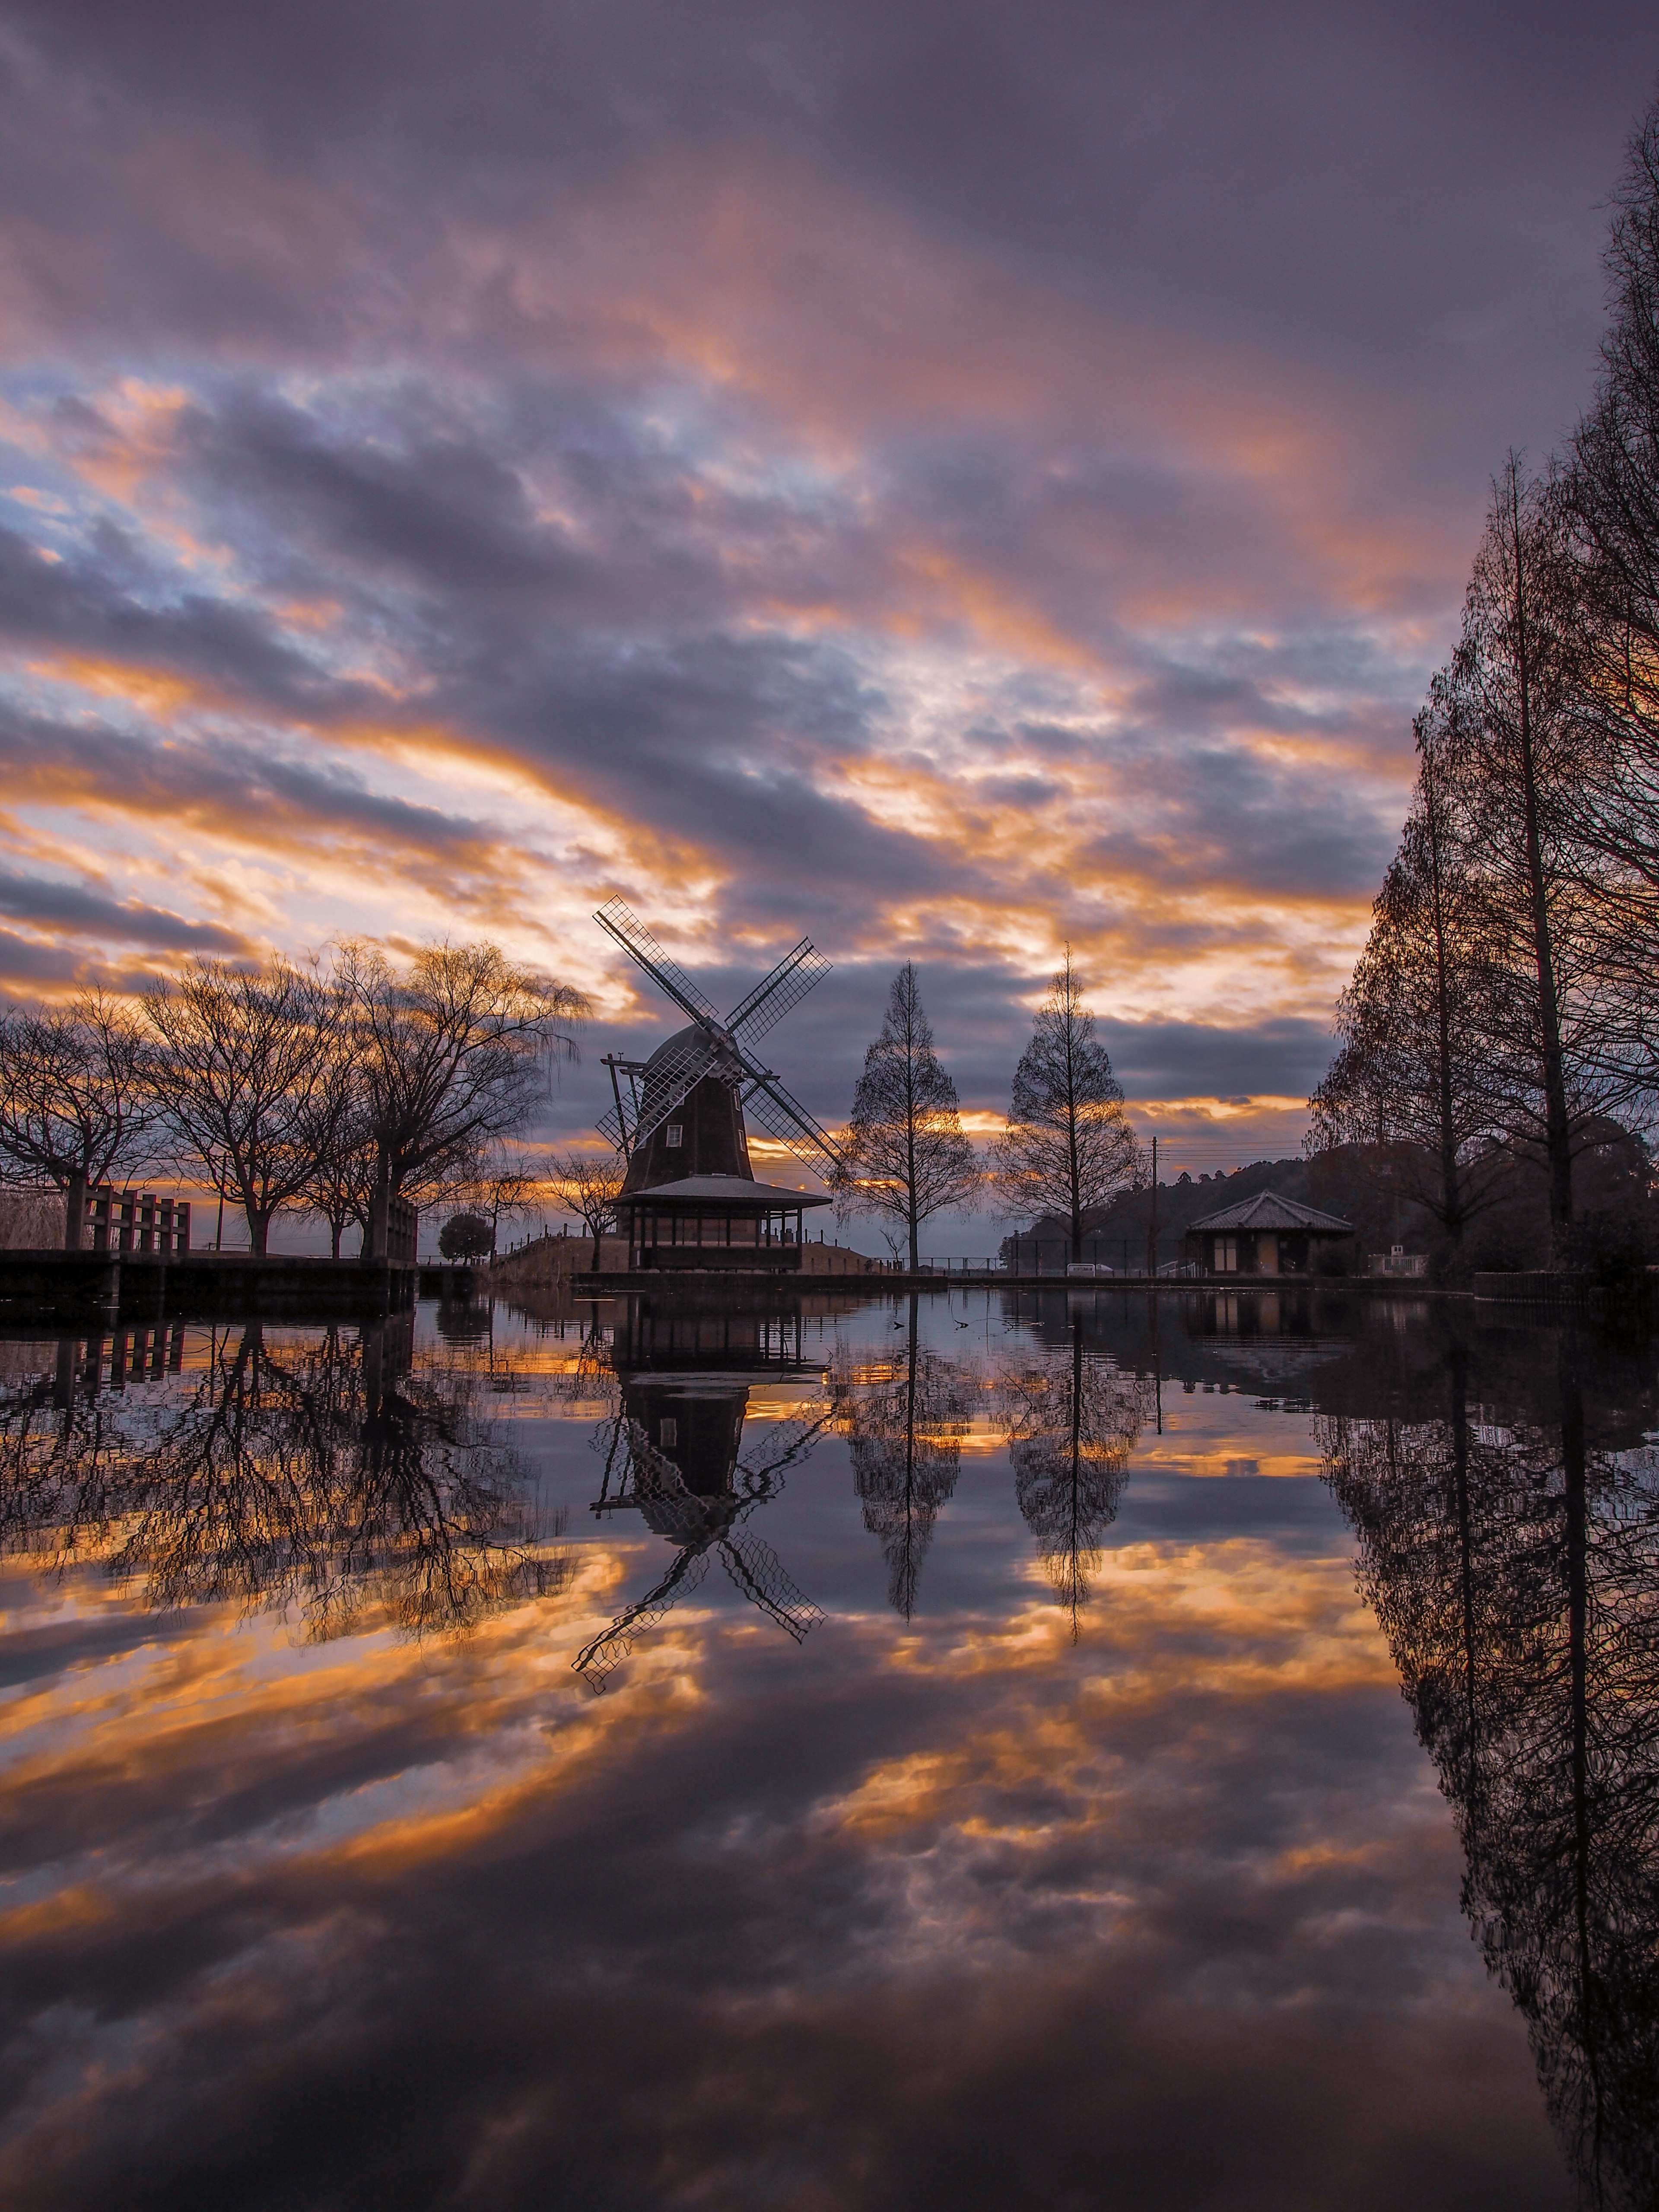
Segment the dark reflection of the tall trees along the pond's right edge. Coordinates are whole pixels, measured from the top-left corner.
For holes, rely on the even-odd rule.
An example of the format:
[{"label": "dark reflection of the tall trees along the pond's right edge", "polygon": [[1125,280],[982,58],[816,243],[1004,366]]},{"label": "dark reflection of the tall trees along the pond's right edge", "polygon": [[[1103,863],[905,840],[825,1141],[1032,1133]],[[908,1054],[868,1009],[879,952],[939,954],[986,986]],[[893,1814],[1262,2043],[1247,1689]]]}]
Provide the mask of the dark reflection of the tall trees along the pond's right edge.
[{"label": "dark reflection of the tall trees along the pond's right edge", "polygon": [[1555,1402],[1500,1427],[1451,1347],[1433,1420],[1323,1422],[1325,1469],[1597,2205],[1659,2201],[1659,1458]]}]

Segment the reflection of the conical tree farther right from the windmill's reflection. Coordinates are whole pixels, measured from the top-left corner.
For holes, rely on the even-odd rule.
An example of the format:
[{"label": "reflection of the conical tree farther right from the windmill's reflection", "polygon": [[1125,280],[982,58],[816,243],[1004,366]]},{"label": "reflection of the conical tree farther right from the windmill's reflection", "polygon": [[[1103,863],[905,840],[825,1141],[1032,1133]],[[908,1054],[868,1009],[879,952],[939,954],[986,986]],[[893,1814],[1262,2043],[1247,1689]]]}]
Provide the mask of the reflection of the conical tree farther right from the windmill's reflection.
[{"label": "reflection of the conical tree farther right from the windmill's reflection", "polygon": [[1128,1455],[1155,1418],[1155,1385],[1150,1376],[1086,1352],[1082,1316],[1073,1314],[1068,1343],[1009,1365],[1000,1396],[1013,1491],[1055,1595],[1071,1613],[1075,1641],[1106,1528],[1124,1495]]}]

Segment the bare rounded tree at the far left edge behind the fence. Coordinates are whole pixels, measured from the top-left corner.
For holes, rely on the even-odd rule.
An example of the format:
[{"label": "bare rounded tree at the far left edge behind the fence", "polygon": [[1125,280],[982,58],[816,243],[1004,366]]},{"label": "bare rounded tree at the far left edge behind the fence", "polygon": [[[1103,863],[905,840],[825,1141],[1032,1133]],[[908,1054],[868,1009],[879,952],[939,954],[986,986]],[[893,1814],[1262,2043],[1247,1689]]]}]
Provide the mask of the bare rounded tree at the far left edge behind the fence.
[{"label": "bare rounded tree at the far left edge behind the fence", "polygon": [[0,1164],[64,1192],[64,1250],[80,1252],[86,1190],[150,1155],[146,1040],[102,991],[0,1018]]}]

